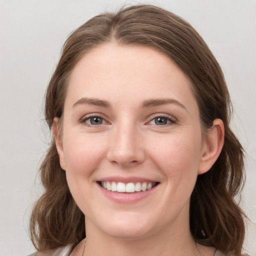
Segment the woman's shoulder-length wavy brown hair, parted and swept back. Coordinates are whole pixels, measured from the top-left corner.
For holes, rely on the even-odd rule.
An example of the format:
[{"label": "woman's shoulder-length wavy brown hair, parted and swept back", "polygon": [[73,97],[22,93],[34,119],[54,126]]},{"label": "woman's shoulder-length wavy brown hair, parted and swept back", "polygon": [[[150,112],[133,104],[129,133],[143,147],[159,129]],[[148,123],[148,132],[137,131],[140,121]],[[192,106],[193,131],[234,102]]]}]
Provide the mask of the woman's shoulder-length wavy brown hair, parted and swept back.
[{"label": "woman's shoulder-length wavy brown hair, parted and swept back", "polygon": [[[190,199],[190,230],[195,240],[223,253],[240,255],[244,213],[235,202],[243,183],[243,149],[229,128],[231,104],[223,73],[206,43],[179,16],[152,5],[134,5],[97,15],[72,32],[64,43],[45,96],[45,118],[61,118],[68,78],[77,61],[99,44],[154,47],[187,75],[197,100],[202,130],[215,118],[224,123],[222,151],[211,169],[198,175]],[[74,202],[54,139],[40,166],[45,192],[34,204],[31,240],[38,250],[77,244],[85,237],[84,215]]]}]

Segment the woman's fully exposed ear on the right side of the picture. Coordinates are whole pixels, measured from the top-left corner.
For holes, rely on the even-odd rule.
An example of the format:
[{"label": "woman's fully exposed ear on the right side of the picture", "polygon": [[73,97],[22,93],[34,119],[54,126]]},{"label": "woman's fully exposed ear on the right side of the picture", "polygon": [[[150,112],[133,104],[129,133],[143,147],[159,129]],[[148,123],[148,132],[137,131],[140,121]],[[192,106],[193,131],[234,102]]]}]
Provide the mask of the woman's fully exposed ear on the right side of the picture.
[{"label": "woman's fully exposed ear on the right side of the picture", "polygon": [[202,147],[202,156],[198,174],[208,171],[217,160],[224,143],[224,124],[221,119],[215,119],[207,131]]}]

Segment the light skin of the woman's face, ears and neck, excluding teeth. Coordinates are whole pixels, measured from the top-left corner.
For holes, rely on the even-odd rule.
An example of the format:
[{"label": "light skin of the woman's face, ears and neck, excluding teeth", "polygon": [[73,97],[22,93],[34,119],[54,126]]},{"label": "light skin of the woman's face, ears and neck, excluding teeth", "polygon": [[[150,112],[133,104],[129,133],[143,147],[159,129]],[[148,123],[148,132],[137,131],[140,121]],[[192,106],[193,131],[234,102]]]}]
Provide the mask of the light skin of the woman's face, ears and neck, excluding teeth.
[{"label": "light skin of the woman's face, ears and neck, excluding teeth", "polygon": [[[145,46],[100,45],[74,67],[53,134],[85,214],[84,255],[214,254],[189,231],[189,198],[197,175],[217,159],[224,128],[215,119],[202,135],[190,87],[173,61]],[[102,180],[156,186],[116,200],[119,192],[102,188]]]}]

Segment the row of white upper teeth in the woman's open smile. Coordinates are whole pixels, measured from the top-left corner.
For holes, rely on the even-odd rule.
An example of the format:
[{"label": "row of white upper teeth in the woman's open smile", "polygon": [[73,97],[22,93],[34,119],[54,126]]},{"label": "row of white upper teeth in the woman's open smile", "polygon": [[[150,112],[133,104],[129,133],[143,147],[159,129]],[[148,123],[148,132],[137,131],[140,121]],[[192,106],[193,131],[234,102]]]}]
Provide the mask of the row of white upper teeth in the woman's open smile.
[{"label": "row of white upper teeth in the woman's open smile", "polygon": [[133,193],[133,192],[140,192],[146,191],[151,189],[156,183],[155,182],[114,182],[114,181],[102,181],[101,186],[109,191],[117,191],[117,192],[126,192],[126,193]]}]

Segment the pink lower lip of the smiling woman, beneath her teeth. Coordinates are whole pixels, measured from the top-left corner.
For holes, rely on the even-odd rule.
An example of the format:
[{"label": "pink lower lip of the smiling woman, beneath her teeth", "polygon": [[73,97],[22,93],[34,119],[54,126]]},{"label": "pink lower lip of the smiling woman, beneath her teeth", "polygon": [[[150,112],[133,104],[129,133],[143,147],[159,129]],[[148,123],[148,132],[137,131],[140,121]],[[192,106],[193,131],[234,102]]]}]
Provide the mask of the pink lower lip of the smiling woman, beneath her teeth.
[{"label": "pink lower lip of the smiling woman, beneath her teeth", "polygon": [[[158,184],[159,185],[159,184]],[[134,192],[134,193],[121,193],[121,192],[113,192],[103,188],[100,184],[98,184],[101,192],[108,197],[110,200],[119,202],[119,203],[133,203],[140,201],[146,197],[148,197],[158,186],[154,186],[151,189],[146,191]]]}]

